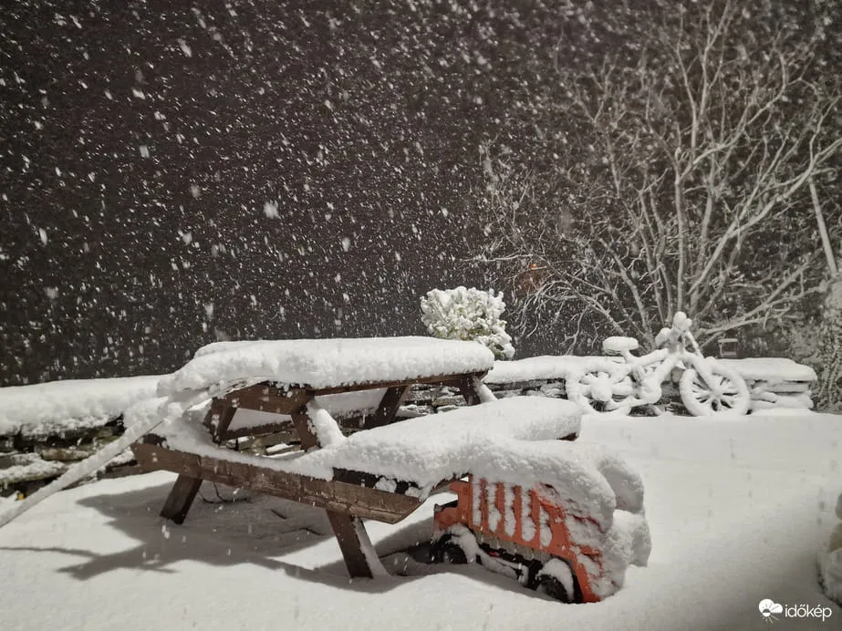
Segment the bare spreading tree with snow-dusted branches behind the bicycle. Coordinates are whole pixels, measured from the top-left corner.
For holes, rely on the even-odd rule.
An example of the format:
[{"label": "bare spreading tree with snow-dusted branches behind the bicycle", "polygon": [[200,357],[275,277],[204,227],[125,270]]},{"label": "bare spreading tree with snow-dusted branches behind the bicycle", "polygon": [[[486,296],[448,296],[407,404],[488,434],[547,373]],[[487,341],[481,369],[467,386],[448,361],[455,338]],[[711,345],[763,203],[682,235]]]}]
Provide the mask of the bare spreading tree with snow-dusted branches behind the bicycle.
[{"label": "bare spreading tree with snow-dusted branches behind the bicycle", "polygon": [[651,344],[683,310],[710,342],[819,291],[811,182],[842,149],[838,80],[816,68],[819,31],[761,28],[744,7],[681,10],[632,63],[557,63],[553,120],[572,131],[549,168],[486,148],[483,258],[527,287],[521,316],[579,332],[587,310]]}]

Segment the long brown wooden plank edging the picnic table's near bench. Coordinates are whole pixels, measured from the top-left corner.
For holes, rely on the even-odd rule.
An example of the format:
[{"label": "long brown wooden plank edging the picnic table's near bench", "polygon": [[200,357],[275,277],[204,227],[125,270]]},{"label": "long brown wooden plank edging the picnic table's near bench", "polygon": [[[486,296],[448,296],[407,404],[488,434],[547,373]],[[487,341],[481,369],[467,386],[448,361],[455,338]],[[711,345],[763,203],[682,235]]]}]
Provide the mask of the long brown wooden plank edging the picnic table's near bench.
[{"label": "long brown wooden plank edging the picnic table's near bench", "polygon": [[418,498],[346,482],[274,471],[261,464],[265,459],[260,456],[251,457],[254,464],[246,464],[140,442],[134,443],[131,450],[144,472],[173,471],[379,522],[400,522],[422,503]]}]

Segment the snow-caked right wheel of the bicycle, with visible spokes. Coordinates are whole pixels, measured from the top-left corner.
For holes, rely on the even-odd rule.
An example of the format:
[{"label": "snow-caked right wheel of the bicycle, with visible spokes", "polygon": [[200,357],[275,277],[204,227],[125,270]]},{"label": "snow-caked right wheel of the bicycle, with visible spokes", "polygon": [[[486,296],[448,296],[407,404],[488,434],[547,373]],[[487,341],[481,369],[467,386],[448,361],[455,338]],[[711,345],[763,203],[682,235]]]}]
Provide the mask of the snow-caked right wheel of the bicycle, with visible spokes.
[{"label": "snow-caked right wheel of the bicycle, with visible spokes", "polygon": [[681,376],[681,400],[691,414],[709,417],[719,414],[743,415],[748,412],[752,398],[740,377],[730,368],[709,365],[713,383],[688,368]]}]

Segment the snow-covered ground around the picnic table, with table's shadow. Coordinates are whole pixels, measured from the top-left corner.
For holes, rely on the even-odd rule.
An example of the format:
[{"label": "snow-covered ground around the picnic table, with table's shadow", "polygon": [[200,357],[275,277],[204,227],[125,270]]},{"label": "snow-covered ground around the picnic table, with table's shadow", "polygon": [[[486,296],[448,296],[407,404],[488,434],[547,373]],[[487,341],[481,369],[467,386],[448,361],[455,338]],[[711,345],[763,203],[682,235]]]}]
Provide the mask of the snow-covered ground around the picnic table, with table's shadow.
[{"label": "snow-covered ground around the picnic table, with table's shadow", "polygon": [[[351,582],[320,512],[197,500],[174,526],[158,517],[174,476],[154,473],[59,493],[0,530],[0,627],[750,630],[768,628],[764,598],[833,612],[774,628],[842,626],[816,584],[842,491],[842,417],[586,418],[581,440],[638,468],[654,543],[650,566],[597,605],[394,554],[428,535],[432,501],[395,526],[369,522],[379,553],[412,575]],[[202,493],[217,499],[213,485]]]}]

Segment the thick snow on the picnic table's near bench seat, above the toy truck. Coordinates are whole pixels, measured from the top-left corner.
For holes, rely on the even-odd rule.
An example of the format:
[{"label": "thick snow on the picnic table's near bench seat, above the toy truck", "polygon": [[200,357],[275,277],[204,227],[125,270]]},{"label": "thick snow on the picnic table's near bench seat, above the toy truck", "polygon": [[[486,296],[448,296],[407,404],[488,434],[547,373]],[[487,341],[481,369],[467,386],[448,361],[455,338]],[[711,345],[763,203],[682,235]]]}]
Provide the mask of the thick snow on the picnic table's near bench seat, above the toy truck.
[{"label": "thick snow on the picnic table's near bench seat, above the toy truck", "polygon": [[[143,422],[150,414],[166,415],[167,406],[167,398],[145,401],[127,413],[127,422]],[[570,401],[514,397],[367,429],[318,450],[256,457],[213,443],[202,424],[206,409],[204,405],[183,417],[167,419],[154,433],[171,450],[245,464],[255,464],[257,458],[268,470],[320,480],[331,480],[335,469],[360,471],[413,482],[421,495],[468,471],[478,475],[494,471],[494,475],[507,476],[510,481],[521,480],[528,475],[524,462],[530,453],[518,445],[535,445],[535,453],[539,453],[537,441],[549,441],[551,445],[565,442],[557,439],[578,434],[582,416]],[[557,453],[549,454],[548,460]],[[558,466],[565,465],[548,462],[545,469]],[[535,475],[542,471],[535,471]]]}]

